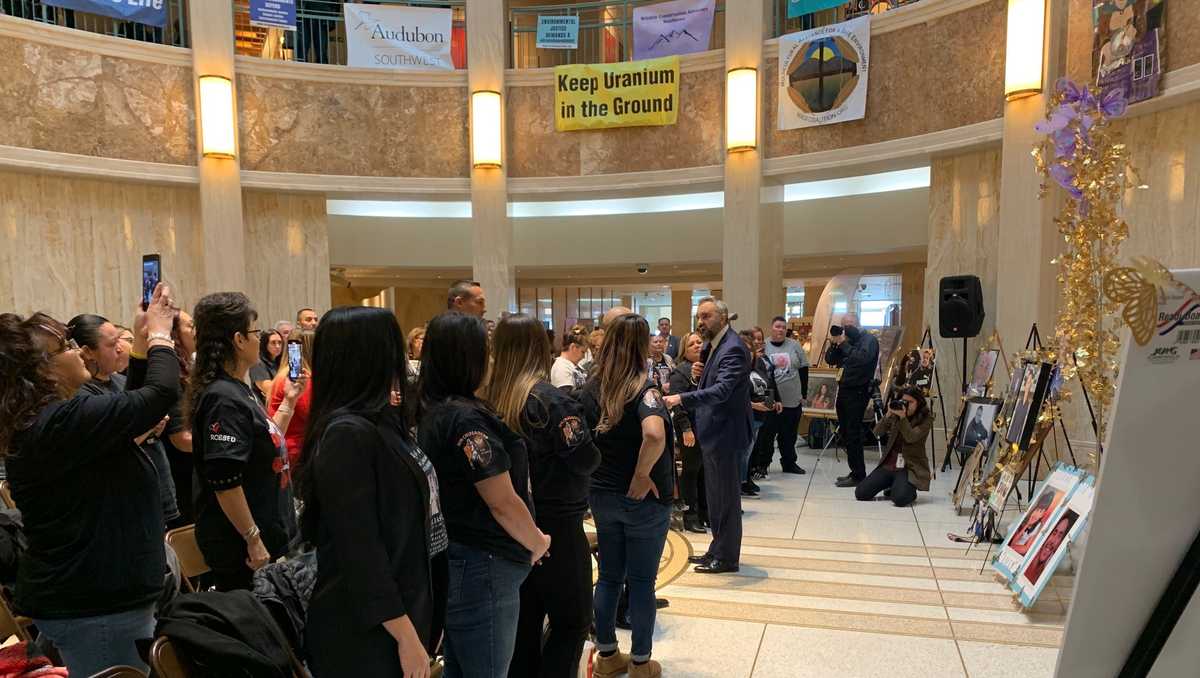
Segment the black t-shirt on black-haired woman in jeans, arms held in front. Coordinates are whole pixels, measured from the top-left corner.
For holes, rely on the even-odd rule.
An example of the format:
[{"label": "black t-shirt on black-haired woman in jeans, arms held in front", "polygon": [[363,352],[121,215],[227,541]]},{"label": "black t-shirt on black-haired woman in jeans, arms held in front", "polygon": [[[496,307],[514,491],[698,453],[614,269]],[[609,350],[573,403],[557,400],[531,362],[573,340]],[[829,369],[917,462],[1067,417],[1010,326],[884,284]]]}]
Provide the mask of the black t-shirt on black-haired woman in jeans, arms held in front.
[{"label": "black t-shirt on black-haired woman in jeans, arms held in front", "polygon": [[479,401],[451,398],[421,418],[420,446],[433,462],[451,541],[529,563],[529,551],[496,522],[475,484],[508,472],[512,490],[529,506],[526,443]]}]

